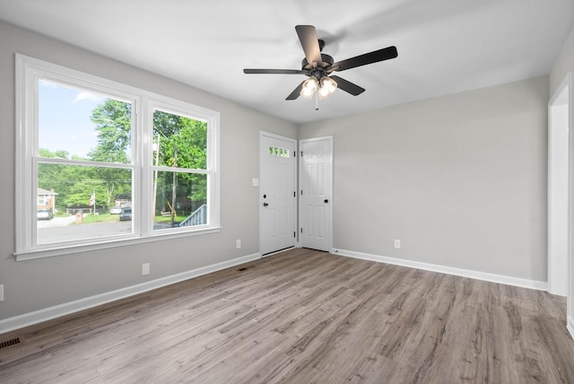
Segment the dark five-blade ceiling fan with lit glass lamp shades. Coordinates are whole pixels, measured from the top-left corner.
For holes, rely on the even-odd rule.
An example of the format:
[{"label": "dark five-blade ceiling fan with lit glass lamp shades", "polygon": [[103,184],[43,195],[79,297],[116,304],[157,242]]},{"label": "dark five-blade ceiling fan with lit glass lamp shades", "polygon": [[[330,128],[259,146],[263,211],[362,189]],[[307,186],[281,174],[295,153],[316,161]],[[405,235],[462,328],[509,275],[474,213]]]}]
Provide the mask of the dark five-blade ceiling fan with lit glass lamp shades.
[{"label": "dark five-blade ceiling fan with lit glass lamp shades", "polygon": [[301,69],[244,69],[244,74],[304,74],[309,79],[300,83],[297,88],[287,96],[286,100],[296,100],[300,95],[310,99],[315,96],[315,109],[318,109],[318,100],[329,97],[338,87],[344,92],[357,96],[365,92],[359,85],[348,82],[343,78],[332,74],[361,65],[378,63],[398,56],[395,46],[378,49],[357,57],[337,61],[321,53],[325,47],[325,41],[317,39],[317,31],[312,25],[297,25],[295,31],[299,36],[301,46],[305,52],[305,58],[301,63]]}]

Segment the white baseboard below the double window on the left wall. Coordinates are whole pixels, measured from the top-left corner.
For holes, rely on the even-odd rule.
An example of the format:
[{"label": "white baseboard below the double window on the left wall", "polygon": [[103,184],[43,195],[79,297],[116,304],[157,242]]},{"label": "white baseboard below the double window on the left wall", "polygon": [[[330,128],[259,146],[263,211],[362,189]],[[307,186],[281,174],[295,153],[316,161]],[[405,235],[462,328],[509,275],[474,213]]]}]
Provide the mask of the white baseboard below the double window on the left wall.
[{"label": "white baseboard below the double window on the left wall", "polygon": [[192,269],[177,275],[170,275],[161,277],[159,279],[151,280],[142,284],[132,285],[126,288],[118,289],[116,291],[100,293],[94,296],[86,297],[83,299],[65,302],[63,304],[55,305],[53,307],[45,308],[43,310],[34,310],[33,312],[24,313],[13,318],[0,320],[0,334],[28,327],[34,324],[41,323],[51,319],[56,319],[70,313],[78,312],[80,310],[87,310],[101,304],[106,304],[111,301],[117,301],[138,293],[152,291],[166,285],[175,284],[189,280],[191,278],[211,274],[212,272],[220,271],[231,266],[239,266],[240,264],[248,263],[249,261],[261,258],[261,254],[254,253],[252,255],[233,258],[221,263],[212,264],[211,266],[202,266],[201,268]]}]

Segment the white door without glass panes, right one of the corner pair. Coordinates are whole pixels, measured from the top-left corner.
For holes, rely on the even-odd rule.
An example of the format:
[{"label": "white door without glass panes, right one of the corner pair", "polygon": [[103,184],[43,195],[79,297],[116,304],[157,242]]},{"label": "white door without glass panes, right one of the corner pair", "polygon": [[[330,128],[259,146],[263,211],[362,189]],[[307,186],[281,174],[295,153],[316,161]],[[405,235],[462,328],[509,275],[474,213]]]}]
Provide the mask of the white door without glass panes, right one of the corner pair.
[{"label": "white door without glass panes, right one of the corner pair", "polygon": [[300,245],[331,251],[333,136],[300,140]]}]

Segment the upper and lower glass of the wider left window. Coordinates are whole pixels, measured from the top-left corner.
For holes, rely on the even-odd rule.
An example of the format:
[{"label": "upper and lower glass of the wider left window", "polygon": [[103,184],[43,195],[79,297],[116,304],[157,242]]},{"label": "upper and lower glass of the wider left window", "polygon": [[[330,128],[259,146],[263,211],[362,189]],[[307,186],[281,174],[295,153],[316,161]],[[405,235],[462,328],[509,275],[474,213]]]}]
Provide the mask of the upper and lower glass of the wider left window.
[{"label": "upper and lower glass of the wider left window", "polygon": [[131,103],[39,80],[37,186],[57,194],[50,217],[39,212],[46,195],[32,212],[49,221],[36,224],[39,245],[132,232],[131,221],[110,211],[117,200],[132,201],[132,170],[111,166],[130,163],[131,135]]}]

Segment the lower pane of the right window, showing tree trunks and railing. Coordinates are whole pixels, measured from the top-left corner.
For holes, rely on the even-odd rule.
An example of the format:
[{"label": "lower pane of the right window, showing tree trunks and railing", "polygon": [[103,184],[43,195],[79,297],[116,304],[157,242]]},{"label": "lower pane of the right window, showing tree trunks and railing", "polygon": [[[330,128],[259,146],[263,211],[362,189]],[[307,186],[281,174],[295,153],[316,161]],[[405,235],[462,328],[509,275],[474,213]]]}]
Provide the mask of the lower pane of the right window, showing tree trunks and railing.
[{"label": "lower pane of the right window, showing tree trunks and railing", "polygon": [[154,230],[207,223],[207,175],[164,171],[156,175]]}]

